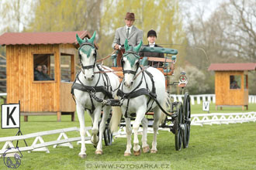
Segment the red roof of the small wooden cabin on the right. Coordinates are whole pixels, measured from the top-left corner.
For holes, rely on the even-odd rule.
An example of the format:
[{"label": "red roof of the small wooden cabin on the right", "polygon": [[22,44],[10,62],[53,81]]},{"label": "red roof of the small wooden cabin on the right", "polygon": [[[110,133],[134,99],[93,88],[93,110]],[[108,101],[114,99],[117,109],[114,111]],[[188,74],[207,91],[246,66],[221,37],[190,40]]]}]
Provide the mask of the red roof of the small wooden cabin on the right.
[{"label": "red roof of the small wooden cabin on the right", "polygon": [[246,71],[256,70],[256,63],[212,63],[208,70],[213,71]]}]

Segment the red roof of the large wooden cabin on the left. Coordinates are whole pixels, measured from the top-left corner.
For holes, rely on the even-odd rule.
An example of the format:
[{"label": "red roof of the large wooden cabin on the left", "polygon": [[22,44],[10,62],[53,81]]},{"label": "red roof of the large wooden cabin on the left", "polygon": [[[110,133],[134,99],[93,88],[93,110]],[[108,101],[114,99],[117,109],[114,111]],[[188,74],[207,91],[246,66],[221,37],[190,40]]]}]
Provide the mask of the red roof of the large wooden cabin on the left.
[{"label": "red roof of the large wooden cabin on the left", "polygon": [[87,31],[75,32],[5,32],[0,36],[0,45],[36,45],[36,44],[74,44],[75,35],[84,39],[91,37]]}]

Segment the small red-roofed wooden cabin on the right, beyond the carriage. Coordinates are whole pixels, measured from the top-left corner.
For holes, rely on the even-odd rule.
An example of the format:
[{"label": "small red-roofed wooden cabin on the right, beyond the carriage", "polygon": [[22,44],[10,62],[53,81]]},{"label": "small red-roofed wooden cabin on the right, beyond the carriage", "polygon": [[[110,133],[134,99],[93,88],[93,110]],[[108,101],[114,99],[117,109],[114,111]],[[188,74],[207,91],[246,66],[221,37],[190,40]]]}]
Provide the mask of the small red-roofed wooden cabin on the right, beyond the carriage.
[{"label": "small red-roofed wooden cabin on the right, beyond the carriage", "polygon": [[248,71],[256,70],[256,63],[212,63],[215,71],[216,110],[225,106],[248,109]]}]

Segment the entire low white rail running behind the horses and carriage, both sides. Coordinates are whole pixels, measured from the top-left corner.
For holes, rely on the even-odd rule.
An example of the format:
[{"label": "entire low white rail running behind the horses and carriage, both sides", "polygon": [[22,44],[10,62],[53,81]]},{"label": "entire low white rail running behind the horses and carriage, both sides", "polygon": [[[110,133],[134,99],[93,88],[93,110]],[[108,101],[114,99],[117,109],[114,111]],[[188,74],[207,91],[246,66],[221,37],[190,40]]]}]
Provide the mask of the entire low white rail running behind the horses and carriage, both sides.
[{"label": "entire low white rail running behind the horses and carriage, both sides", "polygon": [[[247,112],[247,113],[213,113],[213,114],[192,114],[191,115],[191,125],[200,125],[203,124],[234,124],[234,123],[244,123],[249,121],[256,121],[256,112]],[[86,127],[85,131],[87,136],[85,137],[86,143],[91,143],[91,134],[88,132],[88,130],[91,130],[92,127]],[[169,131],[168,128],[159,128],[159,130],[163,131]],[[5,154],[5,151],[8,148],[12,148],[8,150],[8,153],[6,153],[7,157],[13,156],[15,153],[19,151],[46,151],[47,153],[50,153],[48,146],[54,145],[54,148],[57,147],[57,145],[61,146],[67,146],[69,148],[73,148],[73,145],[71,145],[72,141],[81,141],[81,137],[76,138],[67,138],[67,134],[65,134],[68,131],[79,131],[77,127],[74,128],[64,128],[64,129],[57,129],[53,131],[41,131],[36,132],[33,134],[25,134],[22,136],[12,136],[12,137],[4,137],[0,138],[0,142],[5,142],[5,145],[0,150],[0,158],[3,154]],[[142,128],[140,128],[140,133],[142,132]],[[153,133],[152,128],[148,128],[148,133]],[[49,135],[49,134],[59,134],[59,137],[56,141],[43,141],[42,136]],[[126,138],[126,131],[125,128],[121,129],[114,133],[114,136],[116,138]],[[28,138],[35,138],[32,145],[19,148],[14,147],[12,144],[12,141],[21,141]],[[61,139],[64,138],[64,139]],[[37,142],[40,142],[37,144]]]}]

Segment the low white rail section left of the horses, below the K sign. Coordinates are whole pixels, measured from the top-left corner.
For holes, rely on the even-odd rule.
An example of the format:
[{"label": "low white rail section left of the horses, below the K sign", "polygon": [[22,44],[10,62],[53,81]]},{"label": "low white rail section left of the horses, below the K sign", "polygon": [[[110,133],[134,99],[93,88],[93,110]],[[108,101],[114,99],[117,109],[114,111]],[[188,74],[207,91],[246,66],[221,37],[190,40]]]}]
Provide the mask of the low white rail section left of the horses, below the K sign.
[{"label": "low white rail section left of the horses, below the K sign", "polygon": [[[85,137],[85,141],[90,141],[91,134],[88,132],[88,130],[91,130],[91,129],[92,129],[92,127],[85,127],[85,131],[87,134],[87,136]],[[30,151],[46,151],[47,153],[50,153],[47,146],[51,146],[51,145],[54,145],[54,148],[56,148],[57,145],[73,148],[73,145],[70,142],[81,141],[81,137],[67,138],[66,132],[68,132],[68,131],[79,131],[79,128],[73,127],[73,128],[57,129],[57,130],[52,130],[52,131],[40,131],[40,132],[36,132],[33,134],[24,134],[21,136],[11,136],[11,137],[0,138],[0,142],[5,142],[5,145],[0,150],[0,157],[5,153],[5,151],[8,148],[13,148],[13,149],[8,151],[7,156],[12,156],[12,153],[19,152],[19,151],[29,151],[29,152]],[[49,134],[59,134],[59,137],[57,138],[56,141],[44,142],[42,136],[49,135]],[[17,140],[22,141],[22,140],[26,140],[28,138],[35,138],[33,141],[33,144],[29,145],[27,147],[19,148],[19,151],[12,144],[12,141],[17,141]],[[64,138],[64,139],[61,139],[61,138]],[[39,142],[39,144],[37,144],[38,142]],[[90,142],[86,142],[86,143],[90,143]]]}]

